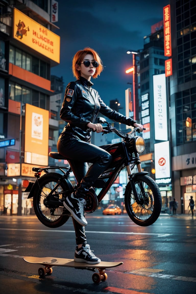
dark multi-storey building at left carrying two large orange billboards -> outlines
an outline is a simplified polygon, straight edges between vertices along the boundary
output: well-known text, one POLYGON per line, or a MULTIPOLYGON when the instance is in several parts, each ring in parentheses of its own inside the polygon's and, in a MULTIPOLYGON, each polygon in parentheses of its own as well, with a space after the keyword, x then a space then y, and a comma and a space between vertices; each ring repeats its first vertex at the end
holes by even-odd
POLYGON ((0 211, 8 214, 31 208, 22 191, 35 179, 32 166, 48 166, 58 133, 62 81, 51 87, 51 67, 60 63, 57 8, 48 0, 0 1, 0 211))

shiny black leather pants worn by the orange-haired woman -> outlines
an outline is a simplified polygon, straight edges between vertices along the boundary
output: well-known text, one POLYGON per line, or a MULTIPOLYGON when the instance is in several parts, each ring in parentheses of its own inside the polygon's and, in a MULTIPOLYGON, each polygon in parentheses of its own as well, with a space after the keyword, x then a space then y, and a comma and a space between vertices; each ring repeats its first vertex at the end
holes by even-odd
MULTIPOLYGON (((68 162, 78 182, 76 196, 84 198, 89 188, 103 173, 112 161, 112 156, 107 151, 78 138, 64 136, 57 142, 58 152, 69 158, 68 162), (92 163, 88 167, 88 163, 92 163)), ((72 218, 73 219, 73 218, 72 218)), ((76 232, 76 244, 86 243, 85 227, 73 219, 76 232)))

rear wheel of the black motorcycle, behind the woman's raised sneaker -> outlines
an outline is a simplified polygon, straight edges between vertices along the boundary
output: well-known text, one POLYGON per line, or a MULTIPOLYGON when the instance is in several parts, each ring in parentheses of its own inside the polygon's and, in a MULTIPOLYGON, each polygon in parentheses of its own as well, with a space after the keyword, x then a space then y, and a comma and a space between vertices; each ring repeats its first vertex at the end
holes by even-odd
MULTIPOLYGON (((43 225, 48 228, 58 228, 68 220, 70 213, 63 206, 63 202, 61 201, 60 206, 58 208, 49 208, 44 204, 44 201, 47 199, 47 195, 54 188, 58 180, 62 176, 58 173, 47 173, 41 176, 38 179, 38 185, 35 188, 33 193, 33 208, 35 214, 43 225), (51 214, 52 213, 52 214, 51 214)), ((62 198, 67 197, 66 191, 70 193, 70 187, 64 180, 61 185, 58 187, 56 193, 54 193, 54 197, 56 201, 60 201, 62 198), (62 193, 61 193, 62 191, 62 193)))

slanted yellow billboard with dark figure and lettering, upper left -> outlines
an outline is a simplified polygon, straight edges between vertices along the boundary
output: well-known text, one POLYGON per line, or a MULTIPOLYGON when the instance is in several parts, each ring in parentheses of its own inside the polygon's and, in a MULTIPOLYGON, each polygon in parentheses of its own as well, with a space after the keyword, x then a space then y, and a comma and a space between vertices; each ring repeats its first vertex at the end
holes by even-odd
POLYGON ((60 63, 60 37, 14 8, 13 38, 60 63))

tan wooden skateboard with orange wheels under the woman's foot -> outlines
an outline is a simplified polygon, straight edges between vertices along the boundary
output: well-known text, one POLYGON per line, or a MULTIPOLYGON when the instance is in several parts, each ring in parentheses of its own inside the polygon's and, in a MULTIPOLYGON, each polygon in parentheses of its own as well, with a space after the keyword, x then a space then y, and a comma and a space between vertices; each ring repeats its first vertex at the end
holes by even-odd
POLYGON ((36 263, 44 265, 45 268, 39 268, 38 274, 40 277, 44 277, 46 274, 52 273, 52 266, 66 266, 71 268, 76 268, 80 270, 91 270, 95 272, 98 270, 98 273, 92 275, 92 280, 94 283, 98 284, 100 281, 105 281, 108 278, 108 275, 105 273, 106 268, 114 268, 116 266, 122 265, 123 262, 106 262, 101 261, 98 264, 88 264, 85 262, 76 262, 73 259, 67 258, 56 258, 56 257, 32 257, 24 256, 24 261, 28 263, 36 263))

